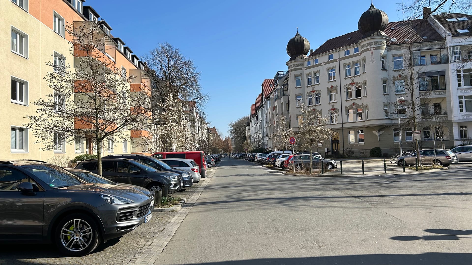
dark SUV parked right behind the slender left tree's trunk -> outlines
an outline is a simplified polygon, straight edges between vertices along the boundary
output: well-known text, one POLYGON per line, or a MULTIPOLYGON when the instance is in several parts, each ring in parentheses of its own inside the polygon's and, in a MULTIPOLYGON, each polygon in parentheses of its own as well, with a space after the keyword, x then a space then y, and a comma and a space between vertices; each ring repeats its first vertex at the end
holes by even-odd
MULTIPOLYGON (((169 193, 182 189, 182 177, 173 172, 157 170, 134 159, 107 158, 101 161, 102 175, 114 182, 133 184, 151 191, 169 188, 169 193)), ((97 159, 80 161, 76 168, 97 173, 97 159)))

